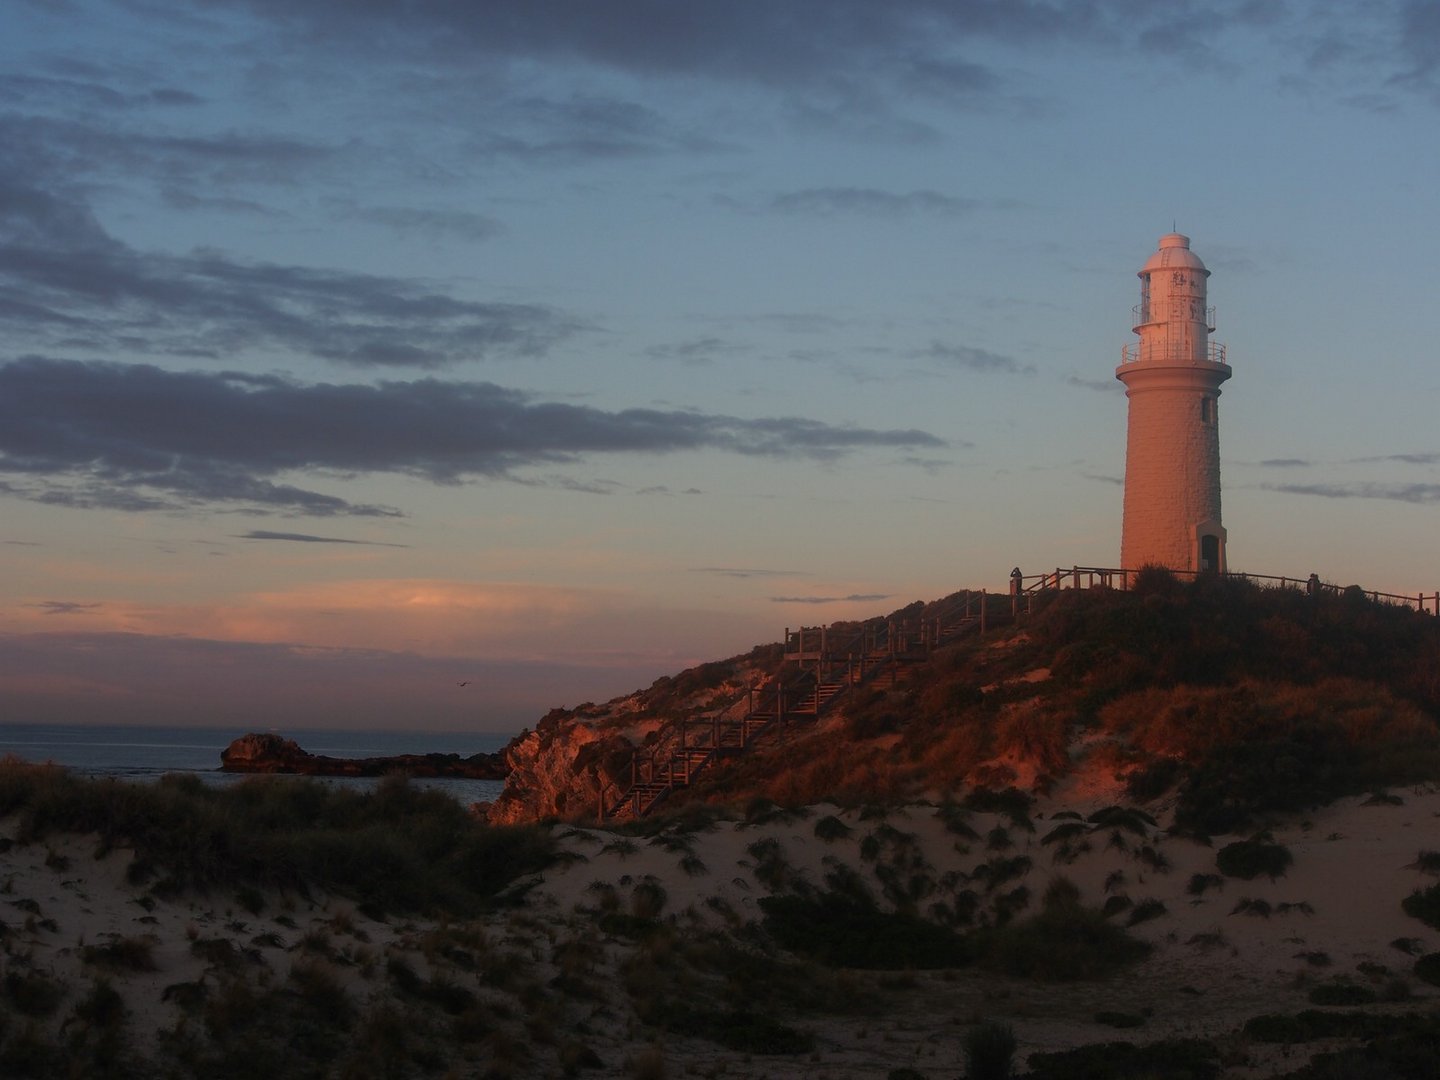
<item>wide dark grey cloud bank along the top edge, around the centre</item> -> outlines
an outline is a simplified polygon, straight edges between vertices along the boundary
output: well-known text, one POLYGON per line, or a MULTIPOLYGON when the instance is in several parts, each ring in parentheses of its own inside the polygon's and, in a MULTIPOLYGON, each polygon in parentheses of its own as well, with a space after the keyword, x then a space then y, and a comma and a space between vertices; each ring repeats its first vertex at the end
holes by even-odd
POLYGON ((346 40, 372 52, 406 49, 431 62, 474 63, 480 56, 580 60, 639 76, 704 76, 772 88, 865 79, 903 82, 936 94, 984 81, 973 60, 946 39, 1056 36, 1077 24, 1068 6, 796 0, 772 4, 645 3, 605 7, 583 0, 314 0, 302 6, 249 0, 281 24, 346 40), (444 43, 444 45, 441 45, 444 43))

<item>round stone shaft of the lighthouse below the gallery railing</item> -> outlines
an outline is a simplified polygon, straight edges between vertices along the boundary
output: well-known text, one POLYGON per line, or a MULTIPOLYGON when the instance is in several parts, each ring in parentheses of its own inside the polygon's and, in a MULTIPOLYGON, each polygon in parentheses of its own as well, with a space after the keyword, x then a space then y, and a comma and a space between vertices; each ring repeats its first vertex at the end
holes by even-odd
POLYGON ((1230 366, 1125 363, 1129 402, 1120 564, 1225 570, 1220 524, 1220 383, 1230 366))

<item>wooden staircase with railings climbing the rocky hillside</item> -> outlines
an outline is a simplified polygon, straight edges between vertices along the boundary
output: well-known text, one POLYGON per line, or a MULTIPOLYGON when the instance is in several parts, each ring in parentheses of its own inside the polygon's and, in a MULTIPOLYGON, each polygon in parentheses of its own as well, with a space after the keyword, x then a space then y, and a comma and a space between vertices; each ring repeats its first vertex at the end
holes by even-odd
POLYGON ((988 599, 985 592, 965 592, 930 605, 916 619, 802 626, 793 635, 786 629, 785 674, 749 687, 711 713, 665 724, 655 744, 631 759, 629 783, 600 795, 600 819, 645 816, 719 760, 749 752, 772 727, 818 720, 854 687, 894 688, 935 648, 985 629, 988 618, 996 621, 994 612, 986 615, 988 599))

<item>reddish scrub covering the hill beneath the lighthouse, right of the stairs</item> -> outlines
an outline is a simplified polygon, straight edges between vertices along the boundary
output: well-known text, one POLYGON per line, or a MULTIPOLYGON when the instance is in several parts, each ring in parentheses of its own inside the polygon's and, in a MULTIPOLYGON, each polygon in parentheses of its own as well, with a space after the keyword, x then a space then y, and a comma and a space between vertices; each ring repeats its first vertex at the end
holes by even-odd
POLYGON ((960 638, 840 710, 838 724, 770 736, 671 804, 959 798, 1014 783, 1017 763, 1044 786, 1087 759, 1123 775, 1135 801, 1178 791, 1181 828, 1234 832, 1440 779, 1440 619, 1146 572, 1129 592, 1041 598, 1018 628, 960 638))

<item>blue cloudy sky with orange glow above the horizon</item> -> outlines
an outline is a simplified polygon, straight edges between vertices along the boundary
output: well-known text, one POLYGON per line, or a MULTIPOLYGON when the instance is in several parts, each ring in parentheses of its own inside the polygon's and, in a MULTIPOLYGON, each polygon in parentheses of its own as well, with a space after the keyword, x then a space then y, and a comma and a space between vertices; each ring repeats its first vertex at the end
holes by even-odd
POLYGON ((1115 566, 1172 229, 1230 567, 1440 586, 1433 0, 0 23, 0 724, 505 733, 1115 566))

